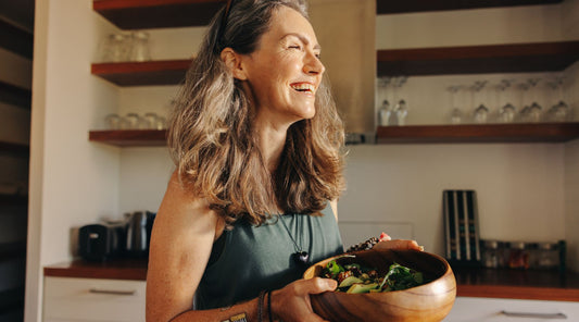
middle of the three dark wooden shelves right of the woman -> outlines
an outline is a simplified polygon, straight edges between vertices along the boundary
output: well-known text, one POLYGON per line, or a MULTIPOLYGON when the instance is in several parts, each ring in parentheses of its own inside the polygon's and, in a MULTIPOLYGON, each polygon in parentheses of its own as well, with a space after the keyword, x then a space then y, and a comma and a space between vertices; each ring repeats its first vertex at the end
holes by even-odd
POLYGON ((563 71, 579 60, 579 41, 378 50, 378 75, 563 71))

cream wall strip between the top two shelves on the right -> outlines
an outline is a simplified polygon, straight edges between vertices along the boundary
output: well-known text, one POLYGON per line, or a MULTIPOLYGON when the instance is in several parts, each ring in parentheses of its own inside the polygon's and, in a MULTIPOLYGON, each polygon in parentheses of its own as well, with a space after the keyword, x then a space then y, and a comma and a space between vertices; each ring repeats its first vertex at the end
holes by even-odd
POLYGON ((376 48, 557 41, 561 21, 558 4, 378 15, 376 48))

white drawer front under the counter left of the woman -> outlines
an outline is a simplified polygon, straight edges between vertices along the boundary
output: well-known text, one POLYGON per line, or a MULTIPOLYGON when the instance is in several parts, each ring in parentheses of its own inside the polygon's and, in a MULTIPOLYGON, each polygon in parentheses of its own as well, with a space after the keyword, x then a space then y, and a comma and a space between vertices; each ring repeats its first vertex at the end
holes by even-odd
POLYGON ((45 277, 43 321, 144 321, 144 281, 45 277))

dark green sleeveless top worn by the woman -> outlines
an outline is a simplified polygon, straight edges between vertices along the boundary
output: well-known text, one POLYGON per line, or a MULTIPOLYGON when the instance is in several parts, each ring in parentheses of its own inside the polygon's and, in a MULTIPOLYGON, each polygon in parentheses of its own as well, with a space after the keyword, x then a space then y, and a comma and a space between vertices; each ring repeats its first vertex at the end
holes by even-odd
POLYGON ((261 290, 278 289, 301 278, 309 265, 342 253, 338 223, 329 202, 322 214, 275 215, 261 226, 238 220, 213 245, 194 309, 223 308, 255 298, 261 290), (288 231, 299 250, 309 252, 306 265, 292 259, 298 249, 288 231))

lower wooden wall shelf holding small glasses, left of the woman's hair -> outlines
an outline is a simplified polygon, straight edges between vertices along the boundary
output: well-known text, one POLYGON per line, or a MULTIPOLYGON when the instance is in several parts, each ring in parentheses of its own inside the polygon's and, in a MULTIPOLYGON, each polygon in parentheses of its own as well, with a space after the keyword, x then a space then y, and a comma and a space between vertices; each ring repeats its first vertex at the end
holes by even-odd
POLYGON ((117 147, 163 147, 165 129, 91 131, 88 139, 117 147))

